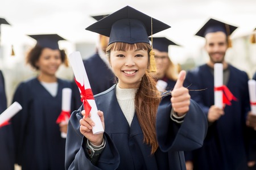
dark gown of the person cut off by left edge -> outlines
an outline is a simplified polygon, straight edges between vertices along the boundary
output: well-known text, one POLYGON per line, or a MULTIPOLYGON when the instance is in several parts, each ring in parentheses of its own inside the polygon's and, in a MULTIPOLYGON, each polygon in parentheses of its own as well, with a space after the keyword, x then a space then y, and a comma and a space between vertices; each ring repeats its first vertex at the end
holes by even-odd
MULTIPOLYGON (((0 70, 0 114, 7 108, 5 80, 0 70)), ((0 127, 0 170, 14 169, 13 131, 10 125, 0 127)))

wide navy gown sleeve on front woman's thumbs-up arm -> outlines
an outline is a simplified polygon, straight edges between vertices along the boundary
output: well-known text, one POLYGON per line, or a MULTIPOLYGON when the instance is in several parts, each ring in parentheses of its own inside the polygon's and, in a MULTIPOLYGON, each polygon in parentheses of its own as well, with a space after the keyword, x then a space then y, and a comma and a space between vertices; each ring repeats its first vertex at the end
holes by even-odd
POLYGON ((207 118, 199 105, 191 100, 189 111, 183 123, 171 121, 171 96, 163 97, 156 115, 156 137, 163 152, 175 150, 189 151, 203 146, 207 134, 207 118))

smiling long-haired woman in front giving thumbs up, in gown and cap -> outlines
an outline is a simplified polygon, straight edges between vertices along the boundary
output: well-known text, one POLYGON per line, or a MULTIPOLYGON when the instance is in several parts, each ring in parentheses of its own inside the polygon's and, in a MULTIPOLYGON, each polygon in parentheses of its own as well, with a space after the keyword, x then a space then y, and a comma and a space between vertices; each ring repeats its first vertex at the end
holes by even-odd
POLYGON ((118 83, 94 96, 104 133, 92 133, 83 105, 72 113, 66 169, 185 169, 183 150, 201 146, 207 120, 183 87, 185 71, 162 95, 149 74, 155 63, 148 36, 167 28, 129 6, 86 28, 110 37, 106 53, 118 83))

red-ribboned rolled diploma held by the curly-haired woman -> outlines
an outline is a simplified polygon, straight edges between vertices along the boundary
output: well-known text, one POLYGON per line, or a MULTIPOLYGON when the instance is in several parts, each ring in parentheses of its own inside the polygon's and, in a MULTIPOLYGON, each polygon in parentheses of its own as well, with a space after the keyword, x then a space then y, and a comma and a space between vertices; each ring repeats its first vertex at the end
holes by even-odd
MULTIPOLYGON (((61 113, 56 120, 56 124, 68 124, 71 113, 71 88, 63 88, 61 99, 61 113)), ((67 138, 67 133, 61 132, 62 138, 67 138)))

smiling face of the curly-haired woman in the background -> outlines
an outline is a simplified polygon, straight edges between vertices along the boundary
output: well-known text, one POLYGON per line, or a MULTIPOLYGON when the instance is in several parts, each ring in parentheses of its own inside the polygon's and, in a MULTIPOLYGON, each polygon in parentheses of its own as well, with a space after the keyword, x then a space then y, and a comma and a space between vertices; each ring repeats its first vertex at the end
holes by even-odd
POLYGON ((52 50, 44 48, 39 56, 36 66, 40 70, 40 74, 53 76, 61 65, 61 54, 60 50, 52 50))

